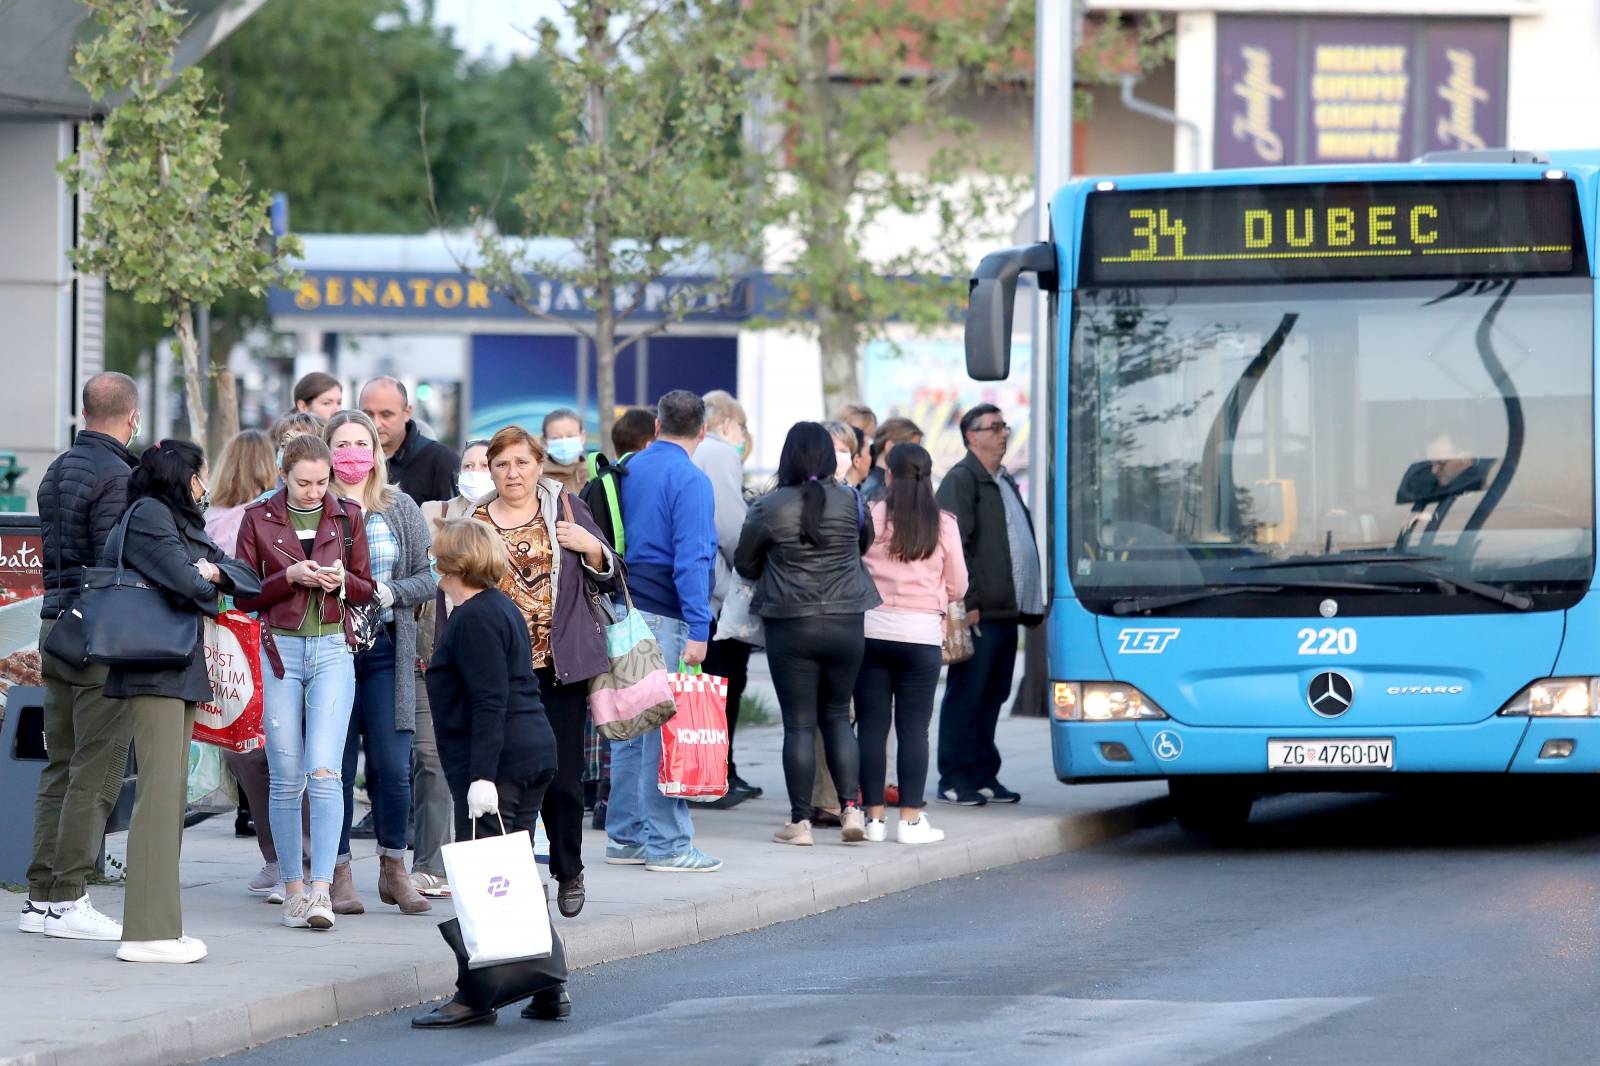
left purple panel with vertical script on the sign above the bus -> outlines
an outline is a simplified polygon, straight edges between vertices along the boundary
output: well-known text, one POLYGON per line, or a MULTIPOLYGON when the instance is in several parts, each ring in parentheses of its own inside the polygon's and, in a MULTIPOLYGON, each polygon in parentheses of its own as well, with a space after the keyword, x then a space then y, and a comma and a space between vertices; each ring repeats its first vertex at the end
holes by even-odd
POLYGON ((1294 162, 1298 53, 1294 19, 1218 19, 1213 166, 1294 162))

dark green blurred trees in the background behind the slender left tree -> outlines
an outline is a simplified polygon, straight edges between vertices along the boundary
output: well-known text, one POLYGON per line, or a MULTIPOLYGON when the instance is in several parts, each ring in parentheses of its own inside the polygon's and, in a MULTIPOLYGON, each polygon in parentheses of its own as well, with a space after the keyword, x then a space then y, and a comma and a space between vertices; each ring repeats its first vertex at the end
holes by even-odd
MULTIPOLYGON (((467 224, 477 205, 514 224, 523 152, 555 136, 544 61, 469 62, 448 27, 405 0, 270 0, 200 69, 227 115, 224 170, 248 166, 262 189, 285 192, 299 232, 426 230, 429 166, 445 224, 467 224), (424 99, 427 160, 418 138, 424 99)), ((266 299, 250 293, 213 307, 219 392, 229 352, 266 320, 266 299)), ((138 373, 162 336, 158 317, 110 291, 109 365, 138 373)))

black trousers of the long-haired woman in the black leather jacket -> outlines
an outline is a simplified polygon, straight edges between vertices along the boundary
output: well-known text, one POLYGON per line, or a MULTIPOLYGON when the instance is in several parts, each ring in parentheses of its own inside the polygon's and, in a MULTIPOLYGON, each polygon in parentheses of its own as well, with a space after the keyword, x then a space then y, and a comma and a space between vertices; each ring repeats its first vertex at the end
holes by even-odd
POLYGON ((845 804, 854 804, 861 755, 850 727, 850 698, 861 671, 866 637, 861 615, 813 615, 766 619, 766 663, 784 714, 784 783, 789 820, 811 818, 816 741, 822 730, 827 770, 845 804))

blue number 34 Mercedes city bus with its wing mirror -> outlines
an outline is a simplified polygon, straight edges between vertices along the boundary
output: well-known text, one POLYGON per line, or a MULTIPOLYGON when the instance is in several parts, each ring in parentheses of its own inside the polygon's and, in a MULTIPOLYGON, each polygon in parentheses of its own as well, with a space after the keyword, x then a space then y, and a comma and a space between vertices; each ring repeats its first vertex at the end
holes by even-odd
POLYGON ((1222 832, 1600 771, 1597 192, 1600 152, 1075 181, 982 259, 971 376, 1021 274, 1051 307, 1061 781, 1222 832))

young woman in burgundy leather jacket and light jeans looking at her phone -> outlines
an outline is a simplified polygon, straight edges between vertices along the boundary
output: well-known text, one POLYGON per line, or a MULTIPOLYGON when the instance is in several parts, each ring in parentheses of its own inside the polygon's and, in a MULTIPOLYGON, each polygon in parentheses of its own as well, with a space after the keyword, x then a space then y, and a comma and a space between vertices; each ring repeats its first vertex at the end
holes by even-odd
POLYGON ((349 608, 373 600, 362 507, 328 491, 333 456, 318 437, 283 447, 283 488, 251 504, 238 559, 261 576, 261 595, 238 607, 261 616, 270 818, 277 840, 298 840, 310 792, 310 887, 283 864, 283 924, 333 928, 334 858, 344 824, 339 768, 355 699, 349 608))

